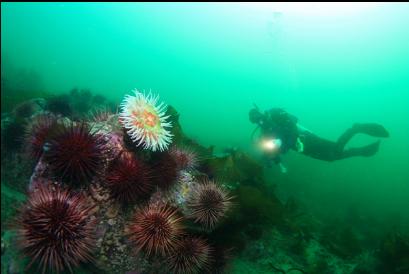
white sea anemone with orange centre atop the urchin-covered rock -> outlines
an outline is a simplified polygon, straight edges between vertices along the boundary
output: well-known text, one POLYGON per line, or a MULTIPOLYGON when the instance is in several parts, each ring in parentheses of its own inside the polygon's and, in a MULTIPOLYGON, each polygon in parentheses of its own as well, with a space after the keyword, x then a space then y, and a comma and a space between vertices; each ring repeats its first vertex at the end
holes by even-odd
POLYGON ((164 103, 157 105, 159 96, 149 92, 145 95, 133 90, 134 96, 126 95, 121 103, 120 120, 127 129, 132 141, 137 146, 152 151, 164 151, 172 142, 172 134, 168 129, 172 127, 165 116, 167 106, 164 103))

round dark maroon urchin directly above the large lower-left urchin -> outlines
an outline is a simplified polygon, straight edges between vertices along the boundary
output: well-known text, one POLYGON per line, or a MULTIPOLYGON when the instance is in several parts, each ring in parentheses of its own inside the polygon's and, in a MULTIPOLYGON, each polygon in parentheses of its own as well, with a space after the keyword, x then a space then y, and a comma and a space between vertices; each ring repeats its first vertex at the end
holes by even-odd
POLYGON ((89 183, 103 165, 105 139, 84 122, 62 125, 49 142, 44 160, 53 174, 70 185, 89 183))

